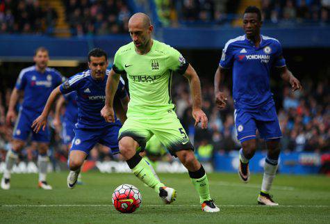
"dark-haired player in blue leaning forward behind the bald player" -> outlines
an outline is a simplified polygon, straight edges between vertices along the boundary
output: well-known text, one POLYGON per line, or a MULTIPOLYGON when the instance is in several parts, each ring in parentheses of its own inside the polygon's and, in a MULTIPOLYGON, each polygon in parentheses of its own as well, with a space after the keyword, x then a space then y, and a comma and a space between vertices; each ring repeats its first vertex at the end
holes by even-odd
MULTIPOLYGON (((68 166, 71 170, 67 177, 69 189, 74 188, 81 166, 94 145, 100 143, 109 147, 113 154, 119 153, 117 136, 122 124, 117 117, 114 118, 113 123, 108 123, 100 113, 104 107, 106 81, 110 73, 109 70, 106 70, 107 66, 108 56, 106 52, 99 48, 92 49, 88 54, 88 67, 90 69, 70 77, 62 85, 55 88, 51 92, 46 106, 44 106, 44 111, 33 122, 34 131, 38 132, 41 128, 43 130, 46 126, 51 105, 56 97, 60 94, 76 91, 79 112, 78 122, 74 128, 72 147, 69 151, 68 166)), ((121 99, 126 111, 129 96, 126 93, 122 79, 114 92, 121 99)))

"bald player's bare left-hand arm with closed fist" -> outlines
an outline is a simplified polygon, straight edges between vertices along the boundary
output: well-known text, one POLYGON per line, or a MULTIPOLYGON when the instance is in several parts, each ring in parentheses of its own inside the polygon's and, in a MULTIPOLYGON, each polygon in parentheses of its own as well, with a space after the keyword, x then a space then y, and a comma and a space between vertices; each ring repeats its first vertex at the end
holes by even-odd
POLYGON ((106 104, 101 110, 101 115, 106 122, 115 122, 115 113, 113 111, 113 98, 118 87, 120 74, 117 74, 113 69, 110 70, 108 80, 106 81, 106 104))

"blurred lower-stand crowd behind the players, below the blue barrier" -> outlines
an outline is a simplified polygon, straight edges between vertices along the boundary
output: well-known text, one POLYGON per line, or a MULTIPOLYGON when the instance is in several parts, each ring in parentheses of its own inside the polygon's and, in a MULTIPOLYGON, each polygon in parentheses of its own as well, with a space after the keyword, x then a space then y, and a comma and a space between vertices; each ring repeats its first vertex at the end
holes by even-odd
MULTIPOLYGON (((240 143, 236 138, 236 128, 233 118, 233 99, 229 97, 226 109, 219 111, 214 104, 213 83, 202 80, 203 110, 208 116, 208 129, 195 129, 195 120, 192 118, 192 101, 188 83, 176 80, 172 85, 172 96, 176 104, 176 113, 183 127, 188 132, 196 153, 203 159, 211 159, 216 152, 229 152, 239 150, 240 143)), ((275 90, 279 121, 283 131, 281 138, 282 152, 329 152, 330 150, 330 90, 329 83, 322 81, 313 83, 311 80, 302 80, 304 90, 292 93, 290 86, 275 90)), ((229 88, 224 89, 231 96, 229 88)), ((13 127, 5 125, 6 110, 11 89, 0 97, 0 149, 3 154, 10 147, 13 127)), ((51 125, 53 114, 49 118, 51 127, 51 145, 56 157, 66 161, 67 152, 61 145, 60 136, 51 125)), ((32 159, 36 153, 33 144, 26 147, 24 154, 32 159)), ((106 147, 97 146, 99 152, 94 150, 90 159, 111 159, 106 147)), ((263 140, 258 140, 258 150, 265 150, 263 140)))

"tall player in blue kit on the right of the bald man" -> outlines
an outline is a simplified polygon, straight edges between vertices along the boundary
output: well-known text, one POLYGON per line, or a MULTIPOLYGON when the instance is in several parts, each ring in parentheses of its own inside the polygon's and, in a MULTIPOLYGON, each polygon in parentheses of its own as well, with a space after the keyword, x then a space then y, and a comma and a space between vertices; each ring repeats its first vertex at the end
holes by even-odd
POLYGON ((238 141, 242 144, 238 174, 249 182, 249 160, 256 152, 256 129, 267 145, 263 183, 258 195, 260 205, 278 205, 270 196, 270 187, 279 162, 279 140, 282 136, 274 99, 270 92, 270 71, 276 67, 282 79, 288 81, 292 91, 301 89, 286 67, 279 40, 260 34, 261 11, 255 6, 245 9, 243 29, 245 35, 226 42, 219 67, 215 72, 215 102, 218 109, 226 106, 222 81, 233 68, 233 99, 238 141))

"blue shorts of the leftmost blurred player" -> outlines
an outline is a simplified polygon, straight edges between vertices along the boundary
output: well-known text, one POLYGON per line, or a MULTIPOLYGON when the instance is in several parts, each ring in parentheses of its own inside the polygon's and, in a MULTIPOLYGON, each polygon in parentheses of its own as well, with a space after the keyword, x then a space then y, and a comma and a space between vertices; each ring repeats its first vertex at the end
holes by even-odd
POLYGON ((46 127, 44 131, 40 129, 38 133, 35 133, 31 128, 33 120, 38 118, 40 113, 35 111, 28 111, 26 109, 19 109, 18 117, 15 123, 15 128, 13 131, 13 138, 22 141, 27 141, 28 136, 32 134, 31 141, 37 141, 41 143, 49 143, 49 129, 46 127))

